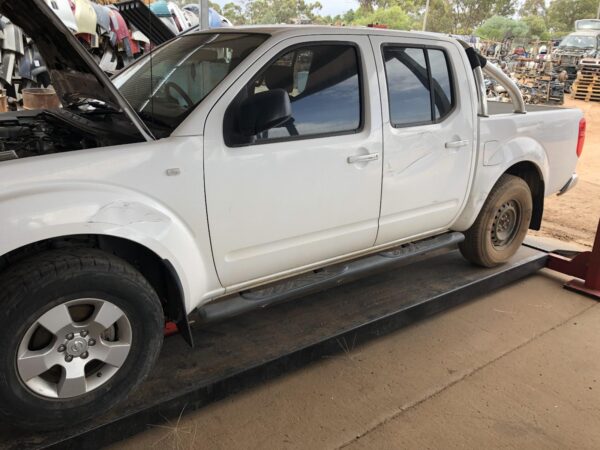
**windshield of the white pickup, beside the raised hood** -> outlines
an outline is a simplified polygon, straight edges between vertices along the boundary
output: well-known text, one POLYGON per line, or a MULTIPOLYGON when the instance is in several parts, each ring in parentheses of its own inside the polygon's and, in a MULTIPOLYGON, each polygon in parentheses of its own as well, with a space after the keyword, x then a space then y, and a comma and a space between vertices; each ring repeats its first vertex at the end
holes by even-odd
POLYGON ((267 37, 185 35, 159 47, 112 81, 158 136, 168 136, 267 37))

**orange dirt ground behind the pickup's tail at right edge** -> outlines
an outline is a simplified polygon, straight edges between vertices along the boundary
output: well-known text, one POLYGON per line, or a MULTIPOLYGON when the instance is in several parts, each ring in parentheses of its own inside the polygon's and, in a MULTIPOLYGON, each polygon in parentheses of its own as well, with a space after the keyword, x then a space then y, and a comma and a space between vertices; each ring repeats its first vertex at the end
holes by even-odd
POLYGON ((580 108, 587 120, 579 184, 562 197, 546 199, 542 229, 532 234, 591 246, 600 218, 600 103, 565 97, 565 106, 580 108))

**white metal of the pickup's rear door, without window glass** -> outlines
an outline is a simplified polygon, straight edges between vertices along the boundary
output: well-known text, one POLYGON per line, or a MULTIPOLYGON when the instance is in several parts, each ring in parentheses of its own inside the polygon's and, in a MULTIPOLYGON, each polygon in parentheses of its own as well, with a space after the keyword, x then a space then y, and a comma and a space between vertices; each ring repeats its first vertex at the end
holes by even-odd
MULTIPOLYGON (((372 36, 371 42, 383 111, 384 168, 377 237, 377 244, 381 245, 447 230, 462 211, 475 165, 476 98, 472 77, 467 76, 464 51, 456 43, 393 36, 372 36), (447 57, 454 109, 438 123, 394 127, 383 47, 420 49, 423 45, 441 50, 447 57), (449 148, 457 143, 461 145, 449 148)), ((403 78, 398 86, 390 84, 390 89, 417 89, 412 82, 403 78)))

